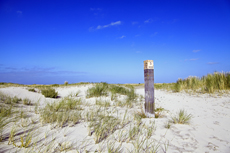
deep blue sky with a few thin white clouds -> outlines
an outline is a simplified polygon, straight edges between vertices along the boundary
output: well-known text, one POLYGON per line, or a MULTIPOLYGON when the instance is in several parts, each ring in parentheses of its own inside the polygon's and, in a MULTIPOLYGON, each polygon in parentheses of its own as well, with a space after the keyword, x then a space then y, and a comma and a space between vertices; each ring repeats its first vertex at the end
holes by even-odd
POLYGON ((0 0, 0 82, 156 83, 230 71, 227 0, 0 0))

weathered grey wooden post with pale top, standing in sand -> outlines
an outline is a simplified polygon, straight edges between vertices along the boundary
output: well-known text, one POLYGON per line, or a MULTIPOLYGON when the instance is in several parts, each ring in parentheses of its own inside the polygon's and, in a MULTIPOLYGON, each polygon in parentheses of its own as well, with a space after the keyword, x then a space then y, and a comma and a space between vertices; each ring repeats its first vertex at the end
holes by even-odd
POLYGON ((144 76, 145 76, 145 114, 148 117, 155 117, 153 60, 144 61, 144 76))

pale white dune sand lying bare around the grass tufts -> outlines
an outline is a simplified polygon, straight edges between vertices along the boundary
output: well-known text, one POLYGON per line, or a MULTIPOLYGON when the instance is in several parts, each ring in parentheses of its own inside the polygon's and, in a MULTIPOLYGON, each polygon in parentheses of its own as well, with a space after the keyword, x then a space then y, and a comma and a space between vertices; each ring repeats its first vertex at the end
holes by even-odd
MULTIPOLYGON (((135 92, 139 95, 137 103, 133 108, 118 107, 115 101, 111 101, 111 94, 107 97, 86 98, 87 89, 93 85, 82 86, 67 86, 57 87, 60 98, 52 99, 45 98, 41 93, 29 92, 26 87, 8 87, 0 88, 0 92, 11 97, 17 96, 19 98, 28 98, 33 103, 39 102, 39 108, 45 107, 46 103, 58 102, 62 98, 70 96, 76 92, 80 92, 78 97, 81 98, 86 106, 82 106, 85 110, 90 108, 96 109, 95 101, 100 99, 102 101, 109 101, 111 106, 106 110, 118 114, 118 118, 124 116, 127 110, 127 116, 130 122, 122 128, 113 131, 106 139, 98 144, 95 144, 94 135, 88 136, 88 123, 81 121, 77 124, 65 127, 53 127, 52 124, 42 124, 40 122, 39 114, 34 113, 33 106, 23 106, 26 108, 31 118, 36 120, 36 123, 21 127, 20 122, 16 123, 17 132, 25 131, 25 129, 33 128, 32 143, 28 148, 19 148, 14 145, 8 145, 8 140, 0 142, 0 152, 89 152, 102 151, 107 152, 109 143, 113 143, 115 147, 120 146, 121 152, 145 152, 144 148, 148 146, 158 146, 157 152, 169 153, 204 153, 204 152, 230 152, 230 95, 209 95, 209 94, 193 94, 187 93, 172 93, 164 90, 155 90, 155 105, 156 108, 162 107, 165 109, 163 117, 161 118, 143 118, 141 120, 143 131, 139 133, 138 137, 133 140, 128 140, 127 134, 130 126, 135 126, 136 122, 133 120, 133 113, 141 111, 144 99, 144 88, 137 88, 135 92), (176 115, 179 110, 184 109, 187 113, 192 114, 190 124, 171 124, 171 127, 165 128, 166 123, 171 119, 171 116, 176 115), (146 129, 144 129, 146 127, 146 129), (140 139, 139 144, 144 140, 146 130, 155 128, 148 141, 145 140, 143 148, 135 150, 135 143, 140 139), (119 135, 124 135, 124 141, 119 142, 119 135), (149 142, 149 144, 148 144, 149 142), (151 145, 150 145, 150 142, 151 145), (33 145, 32 145, 33 144, 33 145), (153 145, 154 144, 154 145, 153 145), (60 149, 62 148, 62 149, 60 149)), ((119 100, 124 100, 125 96, 119 95, 119 100)), ((28 120, 30 122, 30 120, 28 120)), ((9 133, 13 127, 13 123, 3 131, 9 133)), ((15 137, 16 144, 20 145, 19 136, 15 137)))

